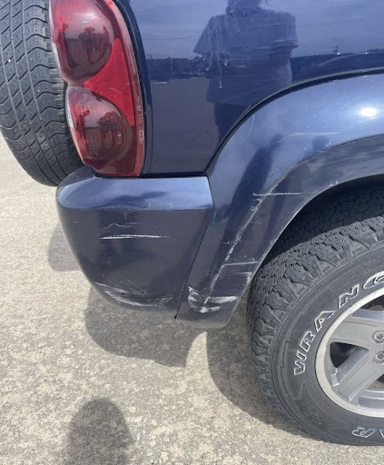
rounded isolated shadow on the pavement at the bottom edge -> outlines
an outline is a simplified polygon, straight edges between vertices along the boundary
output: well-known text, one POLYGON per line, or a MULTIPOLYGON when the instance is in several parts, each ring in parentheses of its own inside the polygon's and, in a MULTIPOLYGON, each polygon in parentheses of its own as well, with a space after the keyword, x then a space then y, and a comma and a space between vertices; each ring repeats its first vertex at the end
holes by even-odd
POLYGON ((108 399, 84 404, 71 421, 65 463, 126 465, 133 438, 123 413, 108 399))

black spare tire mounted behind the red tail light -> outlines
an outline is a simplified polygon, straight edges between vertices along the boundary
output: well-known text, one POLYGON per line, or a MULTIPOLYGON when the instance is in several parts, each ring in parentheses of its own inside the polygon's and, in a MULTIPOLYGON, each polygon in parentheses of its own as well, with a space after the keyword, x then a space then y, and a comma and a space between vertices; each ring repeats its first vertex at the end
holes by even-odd
POLYGON ((49 37, 48 1, 4 0, 0 129, 36 181, 57 185, 82 165, 65 119, 65 88, 49 37))

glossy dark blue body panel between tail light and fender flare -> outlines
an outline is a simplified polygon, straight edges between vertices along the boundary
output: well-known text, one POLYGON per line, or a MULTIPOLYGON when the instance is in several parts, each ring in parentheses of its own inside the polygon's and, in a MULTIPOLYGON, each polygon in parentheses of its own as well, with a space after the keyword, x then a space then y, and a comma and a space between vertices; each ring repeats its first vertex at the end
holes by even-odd
POLYGON ((255 104, 295 84, 384 65, 383 2, 121 0, 120 5, 140 43, 147 174, 203 173, 255 104))

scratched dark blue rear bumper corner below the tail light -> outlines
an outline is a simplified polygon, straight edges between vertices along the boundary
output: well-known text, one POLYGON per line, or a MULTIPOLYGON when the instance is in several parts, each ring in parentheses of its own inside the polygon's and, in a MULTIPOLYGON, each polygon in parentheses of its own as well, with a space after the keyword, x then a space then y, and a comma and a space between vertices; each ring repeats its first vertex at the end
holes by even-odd
POLYGON ((84 167, 57 189, 64 234, 106 300, 175 316, 212 218, 205 177, 101 178, 84 167))

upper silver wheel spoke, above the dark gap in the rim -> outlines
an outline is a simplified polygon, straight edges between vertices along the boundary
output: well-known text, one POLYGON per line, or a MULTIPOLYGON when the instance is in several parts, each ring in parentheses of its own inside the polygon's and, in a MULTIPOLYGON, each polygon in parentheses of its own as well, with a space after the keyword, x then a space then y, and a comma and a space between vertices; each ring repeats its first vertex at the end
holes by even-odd
POLYGON ((384 312, 360 309, 340 323, 330 343, 343 342, 369 349, 377 331, 384 331, 384 312))

